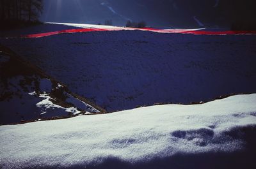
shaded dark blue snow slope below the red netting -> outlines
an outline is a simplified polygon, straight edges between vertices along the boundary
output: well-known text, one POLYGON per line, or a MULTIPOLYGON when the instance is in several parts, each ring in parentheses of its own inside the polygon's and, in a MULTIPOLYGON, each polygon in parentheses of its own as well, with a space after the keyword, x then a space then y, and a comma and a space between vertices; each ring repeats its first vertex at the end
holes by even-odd
POLYGON ((108 31, 0 41, 108 111, 256 92, 255 36, 108 31))

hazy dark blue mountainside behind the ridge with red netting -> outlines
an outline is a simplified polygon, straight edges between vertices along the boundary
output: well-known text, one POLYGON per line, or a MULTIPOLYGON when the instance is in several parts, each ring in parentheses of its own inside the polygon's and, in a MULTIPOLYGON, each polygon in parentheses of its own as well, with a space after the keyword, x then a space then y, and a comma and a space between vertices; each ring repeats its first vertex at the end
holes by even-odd
POLYGON ((104 24, 111 19, 116 26, 144 20, 148 26, 227 27, 234 18, 256 16, 253 5, 255 0, 44 0, 41 20, 104 24))

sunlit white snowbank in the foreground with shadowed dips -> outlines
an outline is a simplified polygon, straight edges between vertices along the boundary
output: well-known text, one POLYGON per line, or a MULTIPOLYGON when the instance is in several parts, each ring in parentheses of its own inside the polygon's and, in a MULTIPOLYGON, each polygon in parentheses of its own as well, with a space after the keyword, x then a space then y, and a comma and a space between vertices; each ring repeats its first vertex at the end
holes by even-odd
POLYGON ((0 126, 0 168, 253 168, 255 103, 237 95, 0 126))

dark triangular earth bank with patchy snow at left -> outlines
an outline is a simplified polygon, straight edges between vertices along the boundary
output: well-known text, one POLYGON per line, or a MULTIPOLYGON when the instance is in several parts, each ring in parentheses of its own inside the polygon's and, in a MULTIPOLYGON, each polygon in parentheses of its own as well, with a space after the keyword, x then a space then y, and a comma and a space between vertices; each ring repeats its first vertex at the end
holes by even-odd
POLYGON ((0 50, 0 124, 100 112, 12 51, 0 50))

